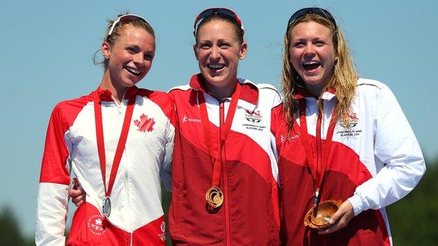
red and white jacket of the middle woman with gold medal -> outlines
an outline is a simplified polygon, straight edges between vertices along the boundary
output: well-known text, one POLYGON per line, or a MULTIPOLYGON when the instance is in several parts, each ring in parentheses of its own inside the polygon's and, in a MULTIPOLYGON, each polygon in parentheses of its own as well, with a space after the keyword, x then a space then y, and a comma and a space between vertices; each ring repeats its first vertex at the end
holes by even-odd
POLYGON ((178 128, 169 212, 173 245, 279 245, 278 171, 270 117, 281 99, 270 85, 245 79, 239 83, 241 93, 225 141, 220 177, 224 203, 215 213, 206 208, 213 165, 204 138, 199 94, 204 93, 215 143, 230 99, 218 102, 208 95, 201 74, 192 76, 189 85, 169 92, 175 100, 178 128))

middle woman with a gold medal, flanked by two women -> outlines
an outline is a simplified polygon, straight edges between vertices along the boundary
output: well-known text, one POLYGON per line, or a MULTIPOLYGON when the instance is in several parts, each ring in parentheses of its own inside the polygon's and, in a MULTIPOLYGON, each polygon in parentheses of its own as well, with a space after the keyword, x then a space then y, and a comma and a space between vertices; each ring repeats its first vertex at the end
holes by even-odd
POLYGON ((169 92, 178 129, 169 212, 172 242, 279 245, 277 162, 270 133, 279 93, 270 85, 237 78, 247 44, 236 13, 202 11, 194 36, 200 73, 169 92))

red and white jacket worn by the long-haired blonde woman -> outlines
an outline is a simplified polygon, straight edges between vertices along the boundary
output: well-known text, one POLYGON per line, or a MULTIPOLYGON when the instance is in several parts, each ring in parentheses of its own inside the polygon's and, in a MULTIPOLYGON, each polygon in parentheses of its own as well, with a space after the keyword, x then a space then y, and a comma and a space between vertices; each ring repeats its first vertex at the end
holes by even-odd
MULTIPOLYGON (((307 103, 307 129, 316 163, 319 109, 314 97, 295 95, 307 103)), ((321 141, 325 144, 336 94, 321 95, 324 114, 321 141)), ((406 196, 425 172, 417 139, 391 90, 383 83, 359 78, 352 102, 350 128, 339 121, 333 133, 321 201, 350 200, 354 218, 336 233, 319 235, 305 227, 304 215, 313 205, 314 184, 300 137, 297 118, 287 134, 283 109, 272 115, 272 132, 279 151, 281 242, 283 245, 392 245, 385 206, 406 196), (344 126, 343 126, 344 125, 344 126)))

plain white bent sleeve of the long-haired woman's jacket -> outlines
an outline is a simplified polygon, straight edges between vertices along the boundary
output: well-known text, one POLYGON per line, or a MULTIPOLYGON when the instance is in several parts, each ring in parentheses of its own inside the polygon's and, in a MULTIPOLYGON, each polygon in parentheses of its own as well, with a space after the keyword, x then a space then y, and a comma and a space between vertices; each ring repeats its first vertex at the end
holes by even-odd
MULTIPOLYGON (((368 121, 370 122, 370 121, 368 121)), ((380 209, 406 196, 425 173, 425 161, 418 141, 390 88, 377 96, 374 129, 375 177, 357 187, 349 198, 354 215, 380 209)))

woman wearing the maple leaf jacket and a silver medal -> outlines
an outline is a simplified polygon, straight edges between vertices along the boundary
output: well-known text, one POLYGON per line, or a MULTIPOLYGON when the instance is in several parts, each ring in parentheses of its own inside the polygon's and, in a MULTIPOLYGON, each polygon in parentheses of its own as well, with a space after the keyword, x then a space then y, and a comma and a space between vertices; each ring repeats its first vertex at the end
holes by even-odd
POLYGON ((67 245, 165 244, 160 175, 170 184, 174 106, 166 93, 135 86, 152 66, 154 30, 138 15, 119 15, 109 21, 101 52, 98 89, 53 109, 36 245, 66 244, 71 171, 86 203, 74 213, 67 245))

